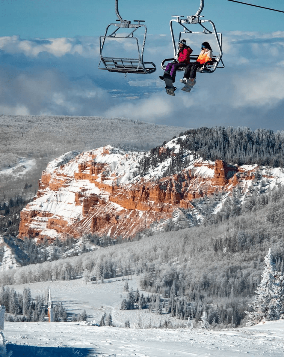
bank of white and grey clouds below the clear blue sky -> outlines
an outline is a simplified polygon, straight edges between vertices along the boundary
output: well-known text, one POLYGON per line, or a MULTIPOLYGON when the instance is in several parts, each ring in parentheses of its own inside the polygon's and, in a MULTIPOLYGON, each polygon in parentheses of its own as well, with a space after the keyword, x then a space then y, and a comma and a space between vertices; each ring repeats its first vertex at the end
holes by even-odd
MULTIPOLYGON (((113 42, 113 51, 119 50, 122 43, 113 42)), ((277 115, 283 114, 284 31, 224 35, 225 68, 210 75, 198 74, 190 94, 181 91, 179 72, 175 97, 166 95, 164 83, 158 79, 161 61, 172 56, 169 36, 149 36, 146 42, 144 60, 155 62, 157 71, 129 74, 126 79, 123 74, 97 70, 98 43, 92 37, 29 41, 2 37, 1 49, 10 57, 1 58, 1 112, 120 116, 188 127, 262 122, 277 128, 277 115), (43 51, 55 57, 48 61, 39 56, 43 51), (64 54, 69 56, 62 57, 64 54), (267 114, 272 108, 275 124, 267 114)), ((199 51, 199 41, 192 39, 191 44, 189 38, 188 44, 199 51)), ((121 51, 126 53, 124 45, 121 51)))

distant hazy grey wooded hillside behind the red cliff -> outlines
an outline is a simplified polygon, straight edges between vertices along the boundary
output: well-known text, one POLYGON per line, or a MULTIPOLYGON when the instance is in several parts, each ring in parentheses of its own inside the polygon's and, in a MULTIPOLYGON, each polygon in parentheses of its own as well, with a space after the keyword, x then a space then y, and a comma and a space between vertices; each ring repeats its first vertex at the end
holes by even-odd
POLYGON ((149 150, 187 129, 125 118, 63 115, 1 115, 0 124, 0 193, 1 202, 6 203, 15 196, 31 199, 48 162, 68 151, 87 151, 108 144, 149 150), (33 159, 35 164, 24 176, 17 170, 3 174, 4 169, 14 168, 23 158, 33 159), (32 190, 25 189, 26 183, 32 190))

